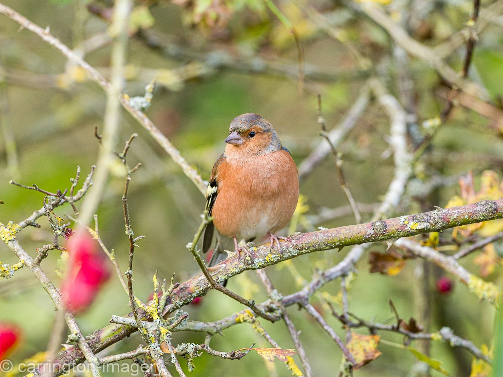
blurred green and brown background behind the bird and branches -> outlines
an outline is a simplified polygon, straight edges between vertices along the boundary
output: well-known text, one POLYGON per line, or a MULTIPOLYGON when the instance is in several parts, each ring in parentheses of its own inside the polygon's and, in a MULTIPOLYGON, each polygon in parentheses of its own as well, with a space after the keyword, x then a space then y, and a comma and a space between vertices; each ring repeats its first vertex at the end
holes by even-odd
MULTIPOLYGON (((445 107, 440 93, 447 89, 437 74, 423 61, 406 59, 397 65, 397 48, 388 35, 367 17, 353 9, 350 2, 275 2, 296 28, 302 43, 306 72, 304 90, 298 95, 298 54, 295 40, 289 30, 274 16, 267 3, 240 2, 141 2, 137 7, 149 7, 150 15, 140 17, 145 27, 140 35, 132 35, 127 56, 127 83, 130 96, 142 95, 144 86, 153 76, 159 83, 154 92, 147 115, 154 124, 181 151, 207 179, 215 159, 224 149, 230 121, 237 115, 256 112, 271 121, 283 145, 292 153, 299 165, 323 140, 317 124, 317 93, 322 95, 323 113, 328 129, 337 126, 362 91, 367 77, 377 75, 388 90, 400 98, 400 85, 404 82, 404 67, 411 83, 411 95, 402 105, 415 115, 416 122, 437 116, 445 107), (176 4, 173 4, 176 3, 176 4), (208 4, 210 7, 206 13, 208 4), (215 5, 216 4, 216 5, 215 5), (198 8, 199 7, 199 8, 198 8), (325 15, 333 27, 340 28, 346 42, 335 40, 324 33, 320 25, 308 18, 304 7, 316 9, 325 15), (210 12, 211 11, 211 12, 210 12), (213 12, 213 13, 212 13, 213 12), (201 20, 202 19, 202 20, 201 20), (148 23, 153 23, 146 28, 148 23), (162 51, 148 45, 155 39, 164 46, 162 51), (349 41, 368 59, 368 69, 358 68, 348 48, 349 41), (264 64, 269 67, 263 72, 264 64), (256 72, 249 67, 255 67, 256 72), (272 67, 272 68, 271 68, 272 67), (273 68, 276 68, 273 69, 273 68), (192 69, 192 71, 190 71, 192 69)), ((395 1, 387 11, 405 24, 411 36, 428 46, 436 46, 461 30, 470 17, 472 3, 468 1, 395 1), (419 13, 414 10, 421 9, 419 13), (407 20, 412 20, 407 23, 407 20)), ((110 2, 82 0, 4 1, 10 7, 45 27, 63 43, 82 53, 91 65, 105 76, 109 75, 110 44, 107 40, 109 25, 107 12, 110 2), (91 11, 90 8, 92 7, 91 11), (94 7, 94 8, 93 8, 94 7), (93 39, 94 38, 94 39, 93 39), (98 48, 90 50, 91 41, 98 48), (101 45, 100 45, 101 43, 101 45)), ((487 3, 489 4, 489 3, 487 3)), ((482 3, 482 8, 486 5, 482 3)), ((418 11, 417 11, 418 12, 418 11)), ((108 13, 109 14, 109 13, 108 13)), ((501 16, 489 22, 477 42, 469 78, 487 90, 489 101, 501 105, 503 80, 503 32, 501 16)), ((459 70, 464 58, 464 47, 447 59, 459 70)), ((96 162, 100 145, 93 136, 95 127, 100 131, 106 103, 105 93, 81 72, 71 67, 53 48, 39 37, 4 16, 0 16, 0 97, 2 100, 2 126, 0 136, 0 221, 19 222, 42 207, 43 195, 29 192, 9 184, 10 179, 23 184, 36 183, 48 191, 63 191, 69 187, 76 166, 82 176, 89 173, 96 162), (7 130, 7 131, 6 131, 7 130), (9 150, 6 133, 12 130, 15 152, 9 150), (14 159, 14 156, 17 158, 14 159)), ((411 123, 414 123, 413 120, 411 123)), ((393 174, 387 138, 389 119, 377 101, 371 101, 355 127, 339 146, 344 160, 347 185, 358 203, 378 203, 385 194, 393 174)), ((415 167, 415 176, 409 191, 392 216, 431 210, 445 206, 459 194, 457 178, 469 170, 474 171, 476 184, 485 169, 502 174, 503 139, 500 123, 491 121, 476 111, 463 107, 454 109, 449 121, 435 136, 431 148, 415 167), (427 190, 433 180, 439 187, 427 190)), ((128 154, 128 162, 142 167, 134 174, 130 186, 129 206, 135 235, 144 235, 138 242, 134 260, 134 292, 147 300, 152 293, 151 277, 155 270, 161 278, 169 279, 176 273, 177 281, 185 281, 198 273, 198 267, 186 249, 200 223, 204 198, 180 168, 156 145, 150 135, 124 112, 118 149, 122 149, 131 133, 137 132, 128 154)), ((128 240, 124 233, 121 195, 124 176, 120 161, 112 170, 103 202, 98 210, 100 234, 109 249, 114 249, 119 264, 127 266, 128 240)), ((301 181, 301 194, 307 199, 307 216, 315 216, 323 208, 346 206, 331 156, 301 181)), ((78 204, 77 204, 78 207, 78 204)), ((70 207, 55 212, 64 216, 70 207)), ((371 212, 363 214, 368 221, 371 212)), ((51 242, 52 233, 45 218, 41 228, 27 228, 18 239, 31 255, 37 247, 51 242)), ((352 215, 338 217, 317 226, 335 227, 353 224, 352 215)), ((442 238, 450 240, 450 233, 442 238)), ((498 245, 501 250, 501 243, 498 245)), ((375 244, 373 251, 383 251, 384 244, 375 244)), ((301 275, 310 280, 316 269, 336 264, 349 251, 345 248, 317 252, 293 260, 301 275)), ((59 252, 50 252, 42 263, 45 271, 59 285, 56 260, 59 252)), ((16 257, 5 246, 0 246, 0 260, 13 264, 16 257)), ((350 311, 359 317, 377 322, 392 323, 393 314, 388 306, 392 299, 401 318, 416 316, 413 310, 413 269, 418 261, 409 261, 397 276, 371 274, 366 257, 357 265, 357 277, 350 291, 350 311)), ((473 256, 462 264, 474 273, 473 256)), ((268 273, 278 291, 284 295, 301 287, 288 268, 277 265, 268 273)), ((479 302, 460 283, 453 292, 441 295, 435 282, 443 272, 430 268, 428 284, 431 300, 432 323, 430 331, 442 326, 451 327, 459 336, 468 338, 477 347, 491 345, 494 310, 486 302, 479 302)), ((501 267, 486 277, 500 284, 501 267)), ((267 299, 255 272, 248 271, 229 281, 228 288, 253 298, 256 302, 267 299)), ((340 281, 323 288, 323 292, 336 296, 340 281)), ((344 337, 341 324, 334 319, 328 306, 319 297, 313 303, 325 319, 344 337)), ((184 308, 189 318, 214 321, 241 310, 242 307, 219 294, 210 292, 198 305, 184 308)), ((340 310, 340 307, 336 307, 340 310)), ((108 324, 113 314, 128 313, 128 300, 117 278, 111 278, 99 294, 91 309, 77 318, 82 332, 89 334, 108 324)), ((288 309, 301 340, 307 350, 315 375, 337 375, 341 360, 340 349, 331 342, 323 330, 304 311, 288 309)), ((0 281, 0 321, 17 324, 23 337, 11 355, 15 362, 44 351, 54 320, 54 308, 47 294, 28 269, 16 272, 12 279, 0 281)), ((282 348, 294 348, 286 327, 282 323, 262 325, 282 348)), ((359 330, 357 330, 359 331, 359 330)), ((364 330, 359 331, 365 333, 364 330)), ((381 333, 384 339, 401 343, 396 334, 381 333)), ((204 334, 174 333, 174 343, 204 340, 204 334)), ((135 334, 108 348, 103 354, 134 349, 141 338, 135 334)), ((243 324, 215 336, 211 346, 221 351, 250 347, 267 347, 266 342, 243 324)), ((469 376, 471 355, 463 350, 432 342, 432 357, 443 362, 451 375, 469 376)), ((403 349, 381 343, 382 356, 356 372, 356 375, 406 376, 415 358, 403 349)), ((297 356, 295 360, 300 366, 297 356)), ((183 360, 181 360, 184 368, 183 360)), ((290 372, 276 361, 263 361, 250 353, 240 361, 222 360, 203 354, 195 360, 196 369, 190 375, 208 376, 287 376, 290 372)), ((175 373, 174 367, 170 370, 175 373)), ((105 373, 105 375, 121 373, 105 373)), ((124 373, 122 373, 124 374, 124 373)), ((122 375, 121 374, 121 375, 122 375)), ((441 375, 433 371, 432 375, 441 375)))

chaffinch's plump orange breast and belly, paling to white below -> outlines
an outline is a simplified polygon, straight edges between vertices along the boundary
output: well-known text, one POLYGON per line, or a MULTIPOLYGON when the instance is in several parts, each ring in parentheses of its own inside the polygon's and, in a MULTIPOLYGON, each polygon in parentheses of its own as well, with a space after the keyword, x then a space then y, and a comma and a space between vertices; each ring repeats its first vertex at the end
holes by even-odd
POLYGON ((297 167, 290 154, 275 152, 229 158, 218 169, 213 223, 227 237, 251 239, 290 221, 299 198, 297 167))

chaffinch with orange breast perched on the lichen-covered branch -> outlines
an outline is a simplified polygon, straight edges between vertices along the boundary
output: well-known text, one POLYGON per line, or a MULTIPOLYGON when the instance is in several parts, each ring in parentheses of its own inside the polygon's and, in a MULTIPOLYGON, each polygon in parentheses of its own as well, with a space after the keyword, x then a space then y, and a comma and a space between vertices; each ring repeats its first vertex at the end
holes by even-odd
MULTIPOLYGON (((206 210, 213 222, 203 234, 203 252, 211 247, 214 228, 222 236, 234 239, 238 246, 268 234, 271 248, 274 232, 290 221, 299 198, 299 174, 288 149, 281 145, 271 123, 258 114, 243 114, 230 123, 225 151, 216 160, 206 192, 206 210)), ((283 238, 283 237, 280 237, 283 238)), ((221 242, 217 237, 210 266, 219 258, 221 242)))

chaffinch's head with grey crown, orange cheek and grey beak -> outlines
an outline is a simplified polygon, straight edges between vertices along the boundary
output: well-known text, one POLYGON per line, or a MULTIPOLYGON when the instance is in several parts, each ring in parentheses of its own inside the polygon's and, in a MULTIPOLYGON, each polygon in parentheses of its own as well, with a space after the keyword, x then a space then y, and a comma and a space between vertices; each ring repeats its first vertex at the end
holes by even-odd
POLYGON ((282 148, 271 123, 258 114, 242 114, 232 120, 225 139, 226 155, 264 154, 282 148))

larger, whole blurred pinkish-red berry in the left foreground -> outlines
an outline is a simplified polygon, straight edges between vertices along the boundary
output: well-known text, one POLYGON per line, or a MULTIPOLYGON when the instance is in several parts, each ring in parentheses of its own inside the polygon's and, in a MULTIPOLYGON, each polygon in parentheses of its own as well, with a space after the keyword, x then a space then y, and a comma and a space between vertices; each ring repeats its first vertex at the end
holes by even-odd
POLYGON ((110 276, 109 265, 89 233, 77 233, 67 244, 70 260, 61 293, 68 311, 86 310, 110 276))

